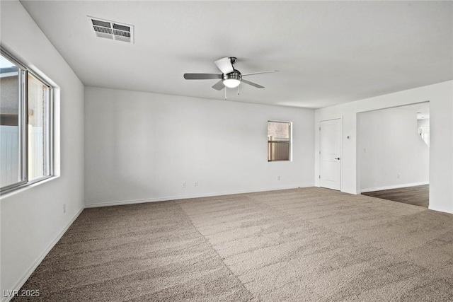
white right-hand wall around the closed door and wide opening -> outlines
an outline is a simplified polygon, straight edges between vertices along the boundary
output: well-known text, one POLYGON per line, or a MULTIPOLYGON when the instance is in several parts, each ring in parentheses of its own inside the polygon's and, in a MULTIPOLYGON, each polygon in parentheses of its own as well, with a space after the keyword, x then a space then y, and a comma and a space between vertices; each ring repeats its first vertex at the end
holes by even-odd
MULTIPOLYGON (((316 110, 315 124, 343 116, 342 191, 357 194, 357 113, 430 101, 430 209, 453 212, 453 81, 399 91, 316 110), (347 136, 350 139, 347 139, 347 136)), ((319 175, 319 134, 315 137, 315 176, 319 175)), ((316 180, 315 184, 319 185, 316 180)))

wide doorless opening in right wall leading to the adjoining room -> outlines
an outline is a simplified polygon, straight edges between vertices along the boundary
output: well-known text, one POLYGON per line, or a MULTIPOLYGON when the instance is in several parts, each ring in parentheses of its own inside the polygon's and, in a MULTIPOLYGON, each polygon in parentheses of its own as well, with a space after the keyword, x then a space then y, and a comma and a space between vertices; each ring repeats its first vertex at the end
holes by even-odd
POLYGON ((362 194, 428 207, 429 121, 429 102, 357 115, 362 194))

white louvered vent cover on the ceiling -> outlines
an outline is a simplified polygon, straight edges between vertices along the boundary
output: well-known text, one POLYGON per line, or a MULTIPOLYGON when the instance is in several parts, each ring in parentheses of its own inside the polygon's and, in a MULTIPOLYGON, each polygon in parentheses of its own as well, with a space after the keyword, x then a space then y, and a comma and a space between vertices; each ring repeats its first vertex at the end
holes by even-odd
POLYGON ((96 37, 134 43, 134 25, 117 23, 88 16, 96 37))

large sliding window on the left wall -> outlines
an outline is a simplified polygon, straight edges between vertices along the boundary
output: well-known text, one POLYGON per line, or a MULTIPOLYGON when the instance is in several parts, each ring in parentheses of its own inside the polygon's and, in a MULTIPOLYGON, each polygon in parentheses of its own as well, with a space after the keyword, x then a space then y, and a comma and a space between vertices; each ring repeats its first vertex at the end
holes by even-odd
POLYGON ((1 192, 52 175, 52 88, 1 50, 1 192))

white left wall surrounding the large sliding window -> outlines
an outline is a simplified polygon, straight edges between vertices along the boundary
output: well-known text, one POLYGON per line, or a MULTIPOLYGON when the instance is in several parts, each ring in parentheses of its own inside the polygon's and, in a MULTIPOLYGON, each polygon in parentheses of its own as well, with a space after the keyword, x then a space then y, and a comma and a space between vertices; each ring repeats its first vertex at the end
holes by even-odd
POLYGON ((3 293, 20 288, 84 207, 84 86, 18 1, 0 1, 0 8, 1 45, 59 87, 55 120, 60 124, 55 129, 59 177, 1 197, 3 293))

